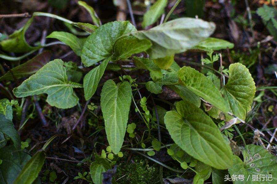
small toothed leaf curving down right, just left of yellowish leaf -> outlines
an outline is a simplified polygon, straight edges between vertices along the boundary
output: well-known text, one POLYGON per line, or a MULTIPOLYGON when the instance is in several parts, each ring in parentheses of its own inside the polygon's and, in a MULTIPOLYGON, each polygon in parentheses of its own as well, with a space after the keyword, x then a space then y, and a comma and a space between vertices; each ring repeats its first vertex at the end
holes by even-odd
POLYGON ((149 58, 133 57, 137 69, 146 69, 150 71, 150 76, 153 80, 162 78, 161 69, 149 58))

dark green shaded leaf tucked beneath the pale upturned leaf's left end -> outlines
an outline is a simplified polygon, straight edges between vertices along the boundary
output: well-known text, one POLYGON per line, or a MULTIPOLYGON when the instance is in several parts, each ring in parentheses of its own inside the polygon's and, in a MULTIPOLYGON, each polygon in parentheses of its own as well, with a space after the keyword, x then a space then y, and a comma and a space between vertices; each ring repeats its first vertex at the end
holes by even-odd
POLYGON ((143 52, 151 46, 152 43, 147 39, 139 40, 133 36, 120 38, 114 44, 114 54, 111 57, 111 61, 129 58, 132 54, 143 52))

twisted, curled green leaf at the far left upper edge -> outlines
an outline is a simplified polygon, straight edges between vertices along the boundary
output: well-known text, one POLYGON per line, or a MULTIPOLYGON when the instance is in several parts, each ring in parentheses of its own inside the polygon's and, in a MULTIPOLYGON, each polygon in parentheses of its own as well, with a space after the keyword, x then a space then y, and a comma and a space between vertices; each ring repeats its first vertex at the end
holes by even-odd
POLYGON ((7 52, 23 53, 38 49, 41 46, 32 47, 25 40, 25 32, 33 22, 34 17, 31 17, 28 22, 19 30, 14 31, 9 39, 0 42, 0 46, 7 52))

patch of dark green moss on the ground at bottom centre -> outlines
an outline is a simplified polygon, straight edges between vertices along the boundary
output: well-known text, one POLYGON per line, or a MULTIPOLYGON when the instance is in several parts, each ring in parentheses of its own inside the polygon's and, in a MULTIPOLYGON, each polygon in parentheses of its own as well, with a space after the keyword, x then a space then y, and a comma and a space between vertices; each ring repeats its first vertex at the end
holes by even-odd
POLYGON ((134 164, 119 164, 115 174, 115 180, 120 178, 118 183, 143 184, 159 182, 159 166, 157 164, 152 164, 149 160, 139 158, 138 156, 133 157, 132 160, 134 161, 134 164))

